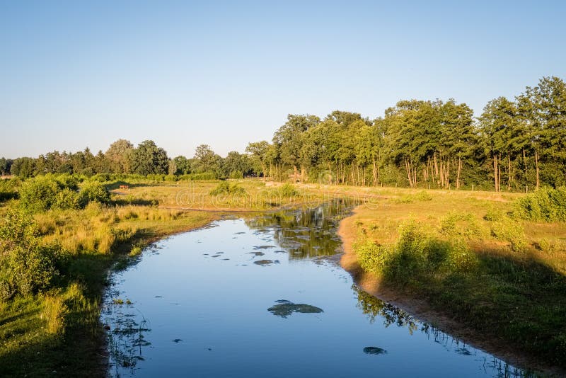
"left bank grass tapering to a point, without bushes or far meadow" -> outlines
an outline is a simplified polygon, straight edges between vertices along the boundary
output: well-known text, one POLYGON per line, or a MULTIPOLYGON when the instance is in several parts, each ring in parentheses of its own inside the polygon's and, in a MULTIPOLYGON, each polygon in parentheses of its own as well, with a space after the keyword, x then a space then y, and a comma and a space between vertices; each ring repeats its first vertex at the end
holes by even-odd
MULTIPOLYGON (((4 202, 0 216, 14 207, 16 200, 4 202)), ((105 336, 98 319, 108 269, 117 262, 127 266, 151 241, 216 217, 155 205, 96 203, 35 214, 42 241, 66 251, 62 278, 50 292, 0 304, 0 376, 105 374, 105 336)))

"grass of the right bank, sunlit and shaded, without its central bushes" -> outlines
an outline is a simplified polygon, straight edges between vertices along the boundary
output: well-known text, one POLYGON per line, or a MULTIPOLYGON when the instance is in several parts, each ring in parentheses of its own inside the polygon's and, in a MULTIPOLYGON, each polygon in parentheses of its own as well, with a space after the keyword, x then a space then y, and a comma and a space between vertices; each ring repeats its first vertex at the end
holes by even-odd
POLYGON ((547 365, 566 367, 566 224, 508 219, 504 214, 521 195, 429 191, 431 200, 419 200, 420 191, 364 191, 381 199, 360 206, 349 219, 356 241, 394 244, 400 224, 408 219, 438 239, 450 240, 439 232, 442 225, 454 214, 466 214, 468 220, 457 221, 456 229, 466 234, 468 248, 477 256, 468 273, 429 273, 399 282, 381 272, 380 285, 408 298, 425 298, 432 309, 483 335, 547 365), (502 218, 488 221, 486 214, 502 218), (524 248, 512 248, 513 238, 522 238, 524 248))

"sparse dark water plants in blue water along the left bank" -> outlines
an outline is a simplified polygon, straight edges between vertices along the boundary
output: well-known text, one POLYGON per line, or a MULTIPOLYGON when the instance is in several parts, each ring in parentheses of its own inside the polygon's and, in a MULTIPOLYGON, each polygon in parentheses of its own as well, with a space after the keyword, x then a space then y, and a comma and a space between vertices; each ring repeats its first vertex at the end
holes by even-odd
POLYGON ((142 316, 138 323, 132 310, 131 305, 107 304, 105 323, 110 326, 108 351, 114 377, 120 377, 120 371, 135 374, 137 362, 145 360, 142 347, 151 345, 144 337, 151 331, 148 322, 142 316))

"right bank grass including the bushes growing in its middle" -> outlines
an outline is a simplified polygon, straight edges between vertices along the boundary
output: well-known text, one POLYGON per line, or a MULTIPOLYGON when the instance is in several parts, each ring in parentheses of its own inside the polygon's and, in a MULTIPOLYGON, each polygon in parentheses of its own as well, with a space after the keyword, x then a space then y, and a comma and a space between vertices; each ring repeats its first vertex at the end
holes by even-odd
POLYGON ((381 200, 349 220, 364 270, 478 333, 566 367, 565 223, 516 217, 524 195, 369 193, 381 200))

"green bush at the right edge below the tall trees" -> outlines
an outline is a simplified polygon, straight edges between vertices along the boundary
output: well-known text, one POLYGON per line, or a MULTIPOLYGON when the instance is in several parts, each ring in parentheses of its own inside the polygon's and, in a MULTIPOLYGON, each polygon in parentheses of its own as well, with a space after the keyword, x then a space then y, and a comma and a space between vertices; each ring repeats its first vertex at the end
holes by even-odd
POLYGON ((517 200, 514 215, 519 219, 566 222, 566 188, 540 188, 517 200))

